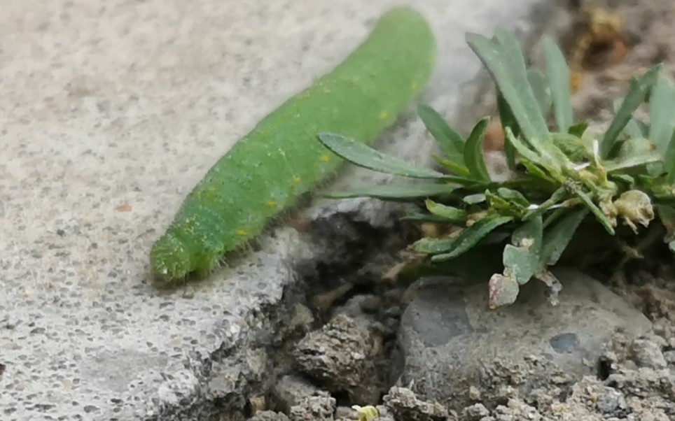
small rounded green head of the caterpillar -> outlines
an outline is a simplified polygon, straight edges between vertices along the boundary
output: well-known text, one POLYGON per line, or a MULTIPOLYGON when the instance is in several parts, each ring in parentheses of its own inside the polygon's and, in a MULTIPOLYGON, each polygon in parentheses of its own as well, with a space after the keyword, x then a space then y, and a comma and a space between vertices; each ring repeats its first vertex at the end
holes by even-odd
POLYGON ((155 280, 164 284, 185 278, 192 266, 186 245, 170 233, 160 237, 153 245, 150 264, 155 280))

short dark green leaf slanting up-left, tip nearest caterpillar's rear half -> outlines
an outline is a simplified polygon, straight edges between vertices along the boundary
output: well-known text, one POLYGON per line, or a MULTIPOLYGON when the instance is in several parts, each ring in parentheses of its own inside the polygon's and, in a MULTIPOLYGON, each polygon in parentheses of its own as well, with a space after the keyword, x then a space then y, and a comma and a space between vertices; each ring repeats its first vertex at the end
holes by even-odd
POLYGON ((461 134, 450 127, 445 118, 430 106, 424 104, 417 106, 417 115, 424 122, 431 136, 436 139, 440 150, 455 166, 453 171, 460 176, 468 176, 469 172, 464 164, 464 138, 461 134))

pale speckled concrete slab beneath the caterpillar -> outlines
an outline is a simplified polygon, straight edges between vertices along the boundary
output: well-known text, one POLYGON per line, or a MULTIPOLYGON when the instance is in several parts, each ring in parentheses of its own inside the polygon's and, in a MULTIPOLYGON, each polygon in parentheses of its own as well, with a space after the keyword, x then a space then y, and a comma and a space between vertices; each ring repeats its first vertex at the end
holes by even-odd
MULTIPOLYGON (((544 1, 4 2, 0 419, 213 419, 209 393, 223 387, 204 382, 293 283, 293 241, 156 292, 148 250, 188 191, 390 6, 412 4, 433 25, 427 93, 452 115, 480 69, 464 32, 526 27, 544 1)), ((420 133, 403 122, 388 136, 415 150, 404 141, 420 133)))

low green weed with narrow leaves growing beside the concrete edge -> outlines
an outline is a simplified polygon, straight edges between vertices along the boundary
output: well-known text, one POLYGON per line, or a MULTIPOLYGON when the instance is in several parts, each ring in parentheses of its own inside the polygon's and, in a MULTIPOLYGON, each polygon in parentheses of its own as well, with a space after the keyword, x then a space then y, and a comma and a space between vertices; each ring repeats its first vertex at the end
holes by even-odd
POLYGON ((587 217, 614 235, 618 222, 638 234, 638 225, 647 227, 657 216, 667 229, 664 241, 675 251, 675 85, 660 74, 662 65, 632 78, 627 95, 615 104, 611 124, 595 134, 587 122, 574 119, 569 69, 554 41, 543 41, 545 69, 540 71, 527 68, 517 38, 507 31, 498 29, 492 38, 468 34, 466 40, 496 84, 514 176, 503 182, 489 176, 481 148, 489 117, 464 138, 423 105, 419 117, 444 155, 436 157, 441 171, 323 133, 319 141, 353 164, 426 180, 328 196, 424 200, 424 213, 408 219, 460 227, 411 245, 430 264, 508 238, 503 273, 489 280, 491 308, 512 304, 520 285, 531 278, 547 283, 555 297, 560 285, 549 268, 587 217), (650 122, 634 115, 643 103, 649 104, 650 122))

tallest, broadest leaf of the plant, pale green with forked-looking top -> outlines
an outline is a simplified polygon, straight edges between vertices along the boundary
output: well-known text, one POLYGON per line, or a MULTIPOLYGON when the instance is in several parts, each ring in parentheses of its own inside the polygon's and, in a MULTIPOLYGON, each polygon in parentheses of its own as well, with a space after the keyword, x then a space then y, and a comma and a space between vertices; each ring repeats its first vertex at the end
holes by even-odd
POLYGON ((527 80, 522 50, 513 34, 497 29, 492 39, 467 34, 466 42, 492 74, 527 141, 548 137, 548 127, 527 80))

